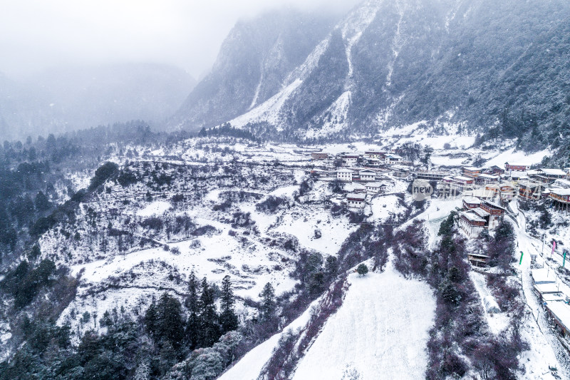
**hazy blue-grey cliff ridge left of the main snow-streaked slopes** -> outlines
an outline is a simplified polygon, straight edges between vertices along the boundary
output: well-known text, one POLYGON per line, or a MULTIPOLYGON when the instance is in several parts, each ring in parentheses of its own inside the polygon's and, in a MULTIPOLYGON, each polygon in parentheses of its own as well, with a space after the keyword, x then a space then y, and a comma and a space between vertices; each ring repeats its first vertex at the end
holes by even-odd
POLYGON ((211 127, 264 103, 281 91, 289 73, 333 24, 330 15, 289 10, 240 21, 222 43, 212 71, 171 124, 191 130, 211 127))

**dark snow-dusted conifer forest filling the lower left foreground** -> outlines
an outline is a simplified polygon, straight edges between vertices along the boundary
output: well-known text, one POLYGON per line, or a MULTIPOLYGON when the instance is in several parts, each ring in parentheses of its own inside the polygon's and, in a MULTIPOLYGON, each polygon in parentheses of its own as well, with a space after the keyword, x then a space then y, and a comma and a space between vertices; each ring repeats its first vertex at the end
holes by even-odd
MULTIPOLYGON (((19 268, 11 276, 14 292, 20 289, 16 277, 29 278, 30 283, 49 277, 49 268, 42 272, 30 272, 25 265, 19 268)), ((88 330, 76 347, 71 344, 74 332, 69 324, 59 327, 56 319, 25 315, 19 322, 25 343, 10 361, 0 362, 0 380, 211 380, 259 343, 257 329, 277 319, 275 292, 269 283, 257 304, 259 314, 244 324, 239 323, 234 303, 229 276, 218 287, 206 277, 200 282, 192 272, 183 302, 164 293, 152 299, 140 317, 123 307, 108 310, 98 321, 104 329, 88 330)))

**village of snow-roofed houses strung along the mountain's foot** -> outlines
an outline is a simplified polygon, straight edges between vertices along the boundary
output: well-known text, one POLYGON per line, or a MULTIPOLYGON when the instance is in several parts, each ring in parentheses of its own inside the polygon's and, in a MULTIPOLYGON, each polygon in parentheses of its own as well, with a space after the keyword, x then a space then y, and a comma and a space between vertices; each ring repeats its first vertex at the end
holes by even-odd
MULTIPOLYGON (((508 202, 513 197, 529 200, 549 199, 558 210, 570 210, 570 168, 564 170, 553 168, 531 169, 529 163, 507 162, 504 168, 497 165, 488 168, 466 166, 455 173, 445 170, 414 170, 412 163, 406 162, 400 155, 378 150, 367 150, 363 154, 340 153, 330 155, 324 152, 312 152, 313 160, 336 158, 337 168, 334 173, 325 170, 313 170, 314 175, 326 175, 345 183, 361 183, 371 194, 385 192, 387 182, 393 178, 418 178, 437 183, 438 195, 462 195, 481 202, 508 202)), ((353 196, 347 204, 354 208, 366 205, 366 196, 353 196)), ((484 210, 483 207, 477 207, 484 210)), ((489 226, 487 215, 481 211, 467 210, 462 220, 467 235, 478 235, 480 227, 489 226), (477 212, 480 215, 477 215, 477 212), (486 222, 482 222, 485 220, 486 222)))

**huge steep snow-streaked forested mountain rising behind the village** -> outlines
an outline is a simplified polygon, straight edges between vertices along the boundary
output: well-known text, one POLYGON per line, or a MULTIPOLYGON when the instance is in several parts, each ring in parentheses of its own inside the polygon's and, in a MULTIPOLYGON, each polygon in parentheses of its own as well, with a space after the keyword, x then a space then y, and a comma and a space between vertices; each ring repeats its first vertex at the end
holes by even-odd
POLYGON ((319 138, 445 118, 552 143, 546 126, 569 121, 569 16, 558 0, 368 0, 323 38, 326 23, 300 29, 307 38, 296 59, 275 53, 286 29, 267 33, 275 16, 242 22, 175 124, 229 121, 259 135, 319 138), (267 57, 280 68, 274 81, 267 57))

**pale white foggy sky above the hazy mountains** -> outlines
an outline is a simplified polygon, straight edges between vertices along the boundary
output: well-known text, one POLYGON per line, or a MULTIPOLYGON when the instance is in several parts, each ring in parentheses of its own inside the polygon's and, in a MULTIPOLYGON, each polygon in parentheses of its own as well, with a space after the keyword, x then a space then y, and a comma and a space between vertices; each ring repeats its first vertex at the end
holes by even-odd
POLYGON ((239 19, 269 9, 348 11, 358 0, 0 0, 0 73, 169 63, 195 78, 239 19))

